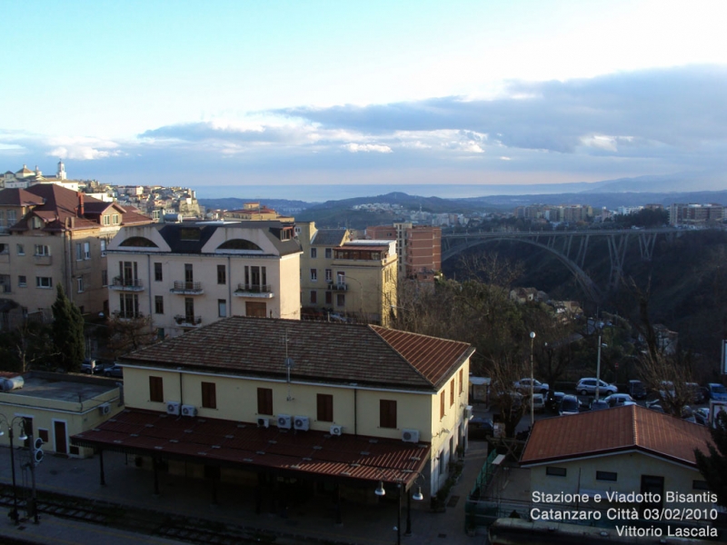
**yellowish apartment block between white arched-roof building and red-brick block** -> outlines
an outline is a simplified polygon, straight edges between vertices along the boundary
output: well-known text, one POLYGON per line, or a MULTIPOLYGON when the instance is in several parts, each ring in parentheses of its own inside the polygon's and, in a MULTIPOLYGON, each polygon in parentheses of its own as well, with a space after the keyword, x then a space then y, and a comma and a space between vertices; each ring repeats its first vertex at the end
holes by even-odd
POLYGON ((395 243, 350 240, 346 229, 297 223, 301 255, 301 304, 357 322, 387 325, 396 306, 395 243))

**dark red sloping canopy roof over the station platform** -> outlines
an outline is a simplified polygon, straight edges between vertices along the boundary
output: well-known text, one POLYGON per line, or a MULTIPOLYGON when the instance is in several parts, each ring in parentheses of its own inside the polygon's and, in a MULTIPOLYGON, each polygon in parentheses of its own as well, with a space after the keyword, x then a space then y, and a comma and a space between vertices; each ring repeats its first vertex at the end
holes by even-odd
POLYGON ((258 428, 249 422, 189 418, 125 410, 71 438, 84 447, 166 459, 303 471, 367 481, 414 481, 431 446, 324 431, 258 428))

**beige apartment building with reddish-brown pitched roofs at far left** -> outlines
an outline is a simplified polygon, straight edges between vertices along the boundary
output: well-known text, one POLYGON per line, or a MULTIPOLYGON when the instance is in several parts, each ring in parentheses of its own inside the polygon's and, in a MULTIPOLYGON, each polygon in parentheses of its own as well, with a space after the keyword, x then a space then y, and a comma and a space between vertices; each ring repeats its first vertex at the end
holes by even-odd
POLYGON ((107 312, 106 250, 124 225, 151 220, 55 183, 0 192, 0 291, 10 306, 50 312, 55 286, 82 312, 107 312))

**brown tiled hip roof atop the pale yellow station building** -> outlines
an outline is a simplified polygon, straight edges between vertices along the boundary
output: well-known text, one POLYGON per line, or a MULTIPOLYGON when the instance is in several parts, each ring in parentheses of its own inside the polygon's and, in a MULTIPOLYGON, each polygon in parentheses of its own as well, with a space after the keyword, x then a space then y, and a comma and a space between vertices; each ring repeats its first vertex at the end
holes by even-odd
POLYGON ((435 392, 474 349, 375 325, 233 316, 126 354, 128 364, 435 392), (287 339, 287 342, 284 342, 287 339))

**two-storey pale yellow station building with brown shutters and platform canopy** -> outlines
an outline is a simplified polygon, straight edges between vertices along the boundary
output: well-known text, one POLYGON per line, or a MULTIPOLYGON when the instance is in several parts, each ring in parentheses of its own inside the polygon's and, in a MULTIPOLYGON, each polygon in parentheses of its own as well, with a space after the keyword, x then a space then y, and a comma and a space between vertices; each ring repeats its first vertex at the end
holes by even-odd
POLYGON ((214 466, 263 497, 271 479, 334 490, 339 508, 373 502, 379 482, 433 494, 466 445, 473 352, 376 325, 234 316, 126 354, 126 411, 72 442, 154 471, 214 466))

